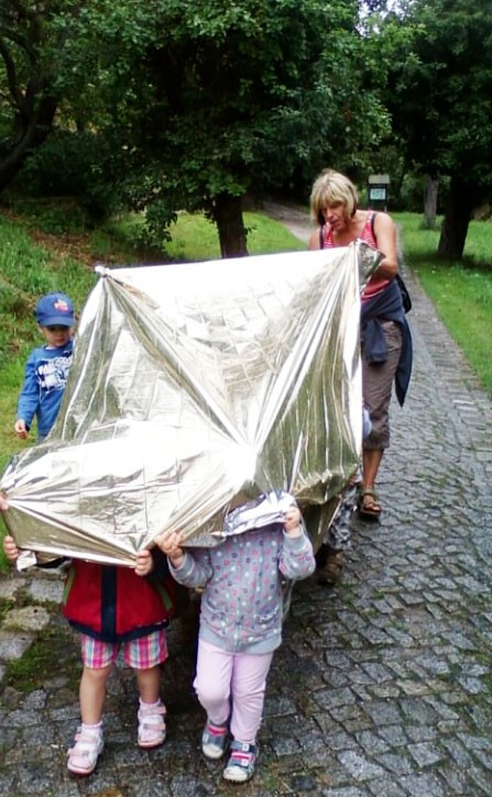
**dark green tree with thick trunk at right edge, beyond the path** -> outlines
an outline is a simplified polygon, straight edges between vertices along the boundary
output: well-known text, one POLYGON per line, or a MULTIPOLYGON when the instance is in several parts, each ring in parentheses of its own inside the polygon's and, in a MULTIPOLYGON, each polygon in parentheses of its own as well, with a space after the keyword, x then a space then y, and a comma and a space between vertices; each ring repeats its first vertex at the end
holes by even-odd
POLYGON ((490 0, 417 0, 386 24, 400 45, 385 95, 394 131, 408 162, 449 177, 438 245, 447 258, 462 257, 471 213, 492 190, 491 12, 490 0))

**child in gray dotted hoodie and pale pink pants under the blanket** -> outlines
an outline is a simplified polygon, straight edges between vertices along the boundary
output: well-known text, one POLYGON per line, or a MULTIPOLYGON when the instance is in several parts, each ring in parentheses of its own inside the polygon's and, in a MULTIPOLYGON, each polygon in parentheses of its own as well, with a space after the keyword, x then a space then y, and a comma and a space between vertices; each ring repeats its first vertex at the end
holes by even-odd
MULTIPOLYGON (((305 578, 315 569, 292 496, 269 494, 252 502, 254 509, 262 501, 277 501, 281 522, 232 533, 216 547, 184 549, 175 532, 156 540, 176 580, 204 588, 194 682, 207 711, 201 751, 220 759, 231 737, 223 777, 237 783, 250 779, 258 757, 266 676, 282 641, 283 579, 305 578)), ((251 506, 234 510, 237 519, 251 506)))

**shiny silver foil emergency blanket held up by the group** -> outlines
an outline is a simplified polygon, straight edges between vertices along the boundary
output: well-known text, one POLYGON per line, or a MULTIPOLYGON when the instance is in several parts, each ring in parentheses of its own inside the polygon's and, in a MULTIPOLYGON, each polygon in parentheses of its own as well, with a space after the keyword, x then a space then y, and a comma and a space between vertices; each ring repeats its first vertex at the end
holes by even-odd
POLYGON ((99 267, 57 421, 0 484, 17 544, 132 565, 165 530, 212 545, 261 524, 231 510, 282 490, 325 522, 360 458, 360 289, 380 258, 357 242, 99 267))

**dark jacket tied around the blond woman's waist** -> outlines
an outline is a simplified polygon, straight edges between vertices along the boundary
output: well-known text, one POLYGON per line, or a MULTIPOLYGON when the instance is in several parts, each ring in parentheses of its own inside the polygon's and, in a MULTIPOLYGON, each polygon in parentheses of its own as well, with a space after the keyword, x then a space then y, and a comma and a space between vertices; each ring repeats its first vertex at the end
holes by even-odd
POLYGON ((395 392, 400 406, 403 407, 412 374, 413 350, 412 334, 395 279, 392 279, 381 294, 362 302, 361 342, 368 365, 385 363, 387 359, 387 344, 381 321, 394 321, 402 330, 402 351, 395 374, 395 392))

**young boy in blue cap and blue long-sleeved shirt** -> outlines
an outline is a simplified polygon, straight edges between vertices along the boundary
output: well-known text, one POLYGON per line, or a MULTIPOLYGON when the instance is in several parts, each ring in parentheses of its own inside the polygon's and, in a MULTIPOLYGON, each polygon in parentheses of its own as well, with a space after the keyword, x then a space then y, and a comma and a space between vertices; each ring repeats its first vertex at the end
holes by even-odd
POLYGON ((34 348, 25 364, 24 384, 13 427, 22 440, 28 436, 34 417, 37 420, 37 440, 44 440, 53 427, 73 355, 75 318, 72 299, 59 292, 42 296, 35 316, 46 343, 34 348))

